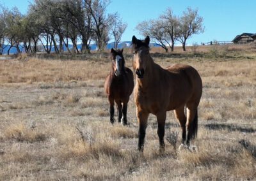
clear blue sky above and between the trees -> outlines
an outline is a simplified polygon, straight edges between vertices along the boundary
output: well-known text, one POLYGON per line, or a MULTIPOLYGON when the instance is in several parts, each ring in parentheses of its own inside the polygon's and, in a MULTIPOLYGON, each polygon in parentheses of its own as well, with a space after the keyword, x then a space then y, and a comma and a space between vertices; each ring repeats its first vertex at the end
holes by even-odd
MULTIPOLYGON (((27 0, 0 0, 8 8, 17 6, 26 13, 27 0)), ((198 14, 204 18, 205 32, 194 35, 188 44, 212 40, 233 40, 237 34, 256 33, 255 0, 112 0, 108 12, 117 11, 128 27, 122 41, 131 40, 133 35, 142 38, 135 30, 136 25, 150 18, 157 18, 170 7, 175 15, 181 15, 186 7, 198 8, 198 14)))

